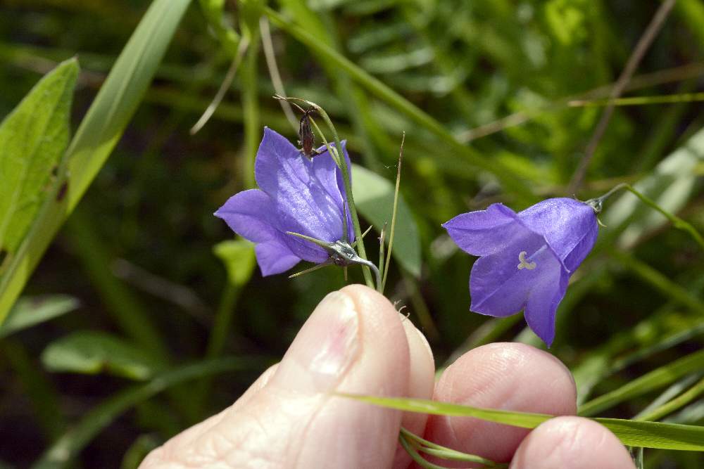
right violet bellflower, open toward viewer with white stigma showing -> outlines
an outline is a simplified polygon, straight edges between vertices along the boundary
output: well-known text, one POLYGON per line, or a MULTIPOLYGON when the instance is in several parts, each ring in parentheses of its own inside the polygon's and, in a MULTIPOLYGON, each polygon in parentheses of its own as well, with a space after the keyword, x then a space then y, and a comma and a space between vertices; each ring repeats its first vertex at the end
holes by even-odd
POLYGON ((596 242, 595 208, 553 198, 515 213, 495 203, 443 226, 462 250, 479 256, 470 275, 470 309, 496 317, 524 309, 528 326, 549 347, 570 276, 596 242))

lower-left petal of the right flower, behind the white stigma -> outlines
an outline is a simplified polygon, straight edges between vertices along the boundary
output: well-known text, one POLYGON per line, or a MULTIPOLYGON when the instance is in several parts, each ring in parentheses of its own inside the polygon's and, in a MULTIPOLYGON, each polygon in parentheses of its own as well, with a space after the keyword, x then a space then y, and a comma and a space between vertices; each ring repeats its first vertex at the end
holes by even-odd
POLYGON ((474 312, 504 317, 525 307, 529 292, 542 276, 551 273, 558 263, 542 236, 524 229, 522 236, 504 246, 500 252, 480 257, 472 266, 470 294, 474 312), (518 269, 521 252, 532 269, 518 269), (550 260, 552 259, 552 262, 550 260))

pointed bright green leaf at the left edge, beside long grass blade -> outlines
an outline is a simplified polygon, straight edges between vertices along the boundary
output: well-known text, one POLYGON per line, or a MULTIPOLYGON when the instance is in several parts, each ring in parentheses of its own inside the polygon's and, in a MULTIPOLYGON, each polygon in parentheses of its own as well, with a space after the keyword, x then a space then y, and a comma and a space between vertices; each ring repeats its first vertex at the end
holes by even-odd
POLYGON ((75 58, 61 63, 0 124, 0 274, 44 200, 55 197, 77 77, 75 58))

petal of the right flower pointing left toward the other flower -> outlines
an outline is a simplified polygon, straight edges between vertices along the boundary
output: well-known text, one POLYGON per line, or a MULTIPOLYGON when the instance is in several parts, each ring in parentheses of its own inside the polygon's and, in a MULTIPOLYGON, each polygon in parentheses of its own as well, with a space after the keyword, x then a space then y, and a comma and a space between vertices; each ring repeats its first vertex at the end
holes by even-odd
POLYGON ((505 250, 506 245, 527 236, 528 231, 517 221, 515 212, 501 203, 460 214, 443 227, 456 245, 474 256, 505 250))

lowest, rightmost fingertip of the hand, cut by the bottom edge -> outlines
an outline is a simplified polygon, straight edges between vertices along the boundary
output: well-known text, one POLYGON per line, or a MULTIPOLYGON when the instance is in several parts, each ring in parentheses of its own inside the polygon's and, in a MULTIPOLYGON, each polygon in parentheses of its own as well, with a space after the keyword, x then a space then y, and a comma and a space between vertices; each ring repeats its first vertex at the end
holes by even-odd
POLYGON ((558 417, 533 430, 518 447, 511 469, 635 469, 626 448, 602 425, 558 417))

